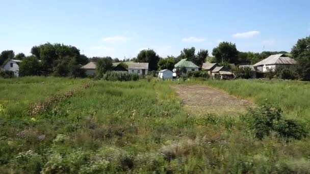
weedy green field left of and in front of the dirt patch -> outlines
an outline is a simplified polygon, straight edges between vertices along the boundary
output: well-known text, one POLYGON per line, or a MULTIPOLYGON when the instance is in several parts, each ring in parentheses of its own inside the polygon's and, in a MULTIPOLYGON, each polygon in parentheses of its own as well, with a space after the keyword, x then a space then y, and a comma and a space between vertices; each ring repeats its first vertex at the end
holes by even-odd
MULTIPOLYGON (((0 100, 0 173, 310 171, 309 138, 286 139, 272 133, 257 139, 238 116, 188 113, 170 88, 177 82, 99 80, 81 90, 88 79, 0 81, 0 93, 6 95, 0 100), (67 95, 71 89, 79 90, 67 95), (27 114, 31 104, 48 103, 55 95, 64 97, 39 114, 27 114), (16 114, 14 108, 18 108, 16 114)), ((190 83, 221 89, 233 84, 238 89, 239 83, 246 83, 225 82, 190 83)), ((269 88, 273 85, 267 82, 269 88)), ((254 94, 236 94, 255 99, 254 94)), ((300 94, 306 91, 296 93, 300 94)))

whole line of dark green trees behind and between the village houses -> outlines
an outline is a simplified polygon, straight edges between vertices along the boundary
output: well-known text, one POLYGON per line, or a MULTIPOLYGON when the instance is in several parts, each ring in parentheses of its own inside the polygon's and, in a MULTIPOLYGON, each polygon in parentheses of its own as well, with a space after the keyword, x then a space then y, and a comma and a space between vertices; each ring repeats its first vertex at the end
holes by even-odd
POLYGON ((25 56, 23 53, 14 54, 13 50, 4 50, 0 54, 0 66, 7 60, 17 59, 23 60, 20 63, 20 76, 30 75, 54 75, 54 76, 70 76, 84 77, 85 72, 81 66, 90 61, 97 62, 101 67, 100 73, 106 73, 113 68, 115 62, 146 62, 149 63, 149 70, 157 71, 162 69, 172 70, 174 65, 182 60, 187 59, 197 66, 201 67, 204 62, 220 63, 225 66, 234 63, 240 64, 255 64, 272 54, 284 53, 287 56, 294 58, 297 61, 296 73, 303 80, 310 80, 310 51, 309 37, 298 40, 292 48, 291 53, 286 51, 263 51, 257 52, 242 52, 239 51, 235 43, 221 42, 212 50, 212 55, 209 56, 208 49, 200 49, 196 53, 195 47, 184 48, 178 56, 160 57, 153 49, 141 50, 137 57, 132 59, 118 58, 112 59, 106 57, 87 57, 80 53, 80 50, 71 45, 45 43, 31 48, 30 56, 25 56))

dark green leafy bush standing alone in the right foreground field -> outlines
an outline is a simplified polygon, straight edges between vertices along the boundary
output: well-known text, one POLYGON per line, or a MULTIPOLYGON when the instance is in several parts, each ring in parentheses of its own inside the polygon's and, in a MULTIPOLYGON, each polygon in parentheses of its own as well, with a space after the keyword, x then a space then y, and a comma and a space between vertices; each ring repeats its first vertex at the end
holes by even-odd
POLYGON ((306 136, 304 126, 294 120, 282 118, 282 110, 271 106, 261 106, 259 108, 250 108, 242 116, 248 129, 253 131, 256 138, 262 139, 272 131, 277 132, 281 137, 301 139, 306 136))

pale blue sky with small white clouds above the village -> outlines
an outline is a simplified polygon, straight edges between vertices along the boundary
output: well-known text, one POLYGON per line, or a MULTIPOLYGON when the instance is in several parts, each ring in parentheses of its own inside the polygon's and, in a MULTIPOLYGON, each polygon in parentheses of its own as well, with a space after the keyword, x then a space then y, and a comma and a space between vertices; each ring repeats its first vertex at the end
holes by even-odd
POLYGON ((3 1, 0 50, 74 45, 88 56, 134 57, 143 48, 177 56, 220 41, 240 51, 290 51, 310 35, 310 1, 3 1))

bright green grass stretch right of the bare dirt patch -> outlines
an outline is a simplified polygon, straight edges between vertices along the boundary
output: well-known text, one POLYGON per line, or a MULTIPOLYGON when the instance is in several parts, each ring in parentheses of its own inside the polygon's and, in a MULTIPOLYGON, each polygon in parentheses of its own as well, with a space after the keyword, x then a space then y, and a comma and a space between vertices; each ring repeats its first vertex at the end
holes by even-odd
POLYGON ((310 83, 280 80, 209 80, 205 82, 257 104, 279 106, 287 117, 310 122, 310 83))

